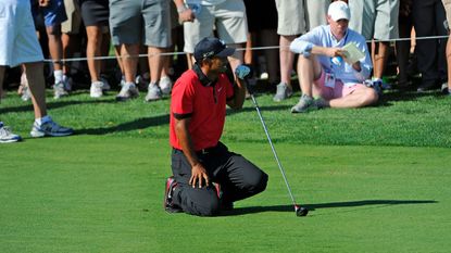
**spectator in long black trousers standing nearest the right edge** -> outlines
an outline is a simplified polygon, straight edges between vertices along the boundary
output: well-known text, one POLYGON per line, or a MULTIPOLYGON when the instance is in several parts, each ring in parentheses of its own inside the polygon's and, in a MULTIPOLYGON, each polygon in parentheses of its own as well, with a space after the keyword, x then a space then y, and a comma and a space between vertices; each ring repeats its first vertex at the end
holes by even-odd
POLYGON ((413 0, 413 25, 416 31, 416 54, 422 84, 417 92, 438 88, 447 79, 446 45, 447 39, 421 39, 429 36, 448 35, 443 22, 444 8, 441 0, 413 0))

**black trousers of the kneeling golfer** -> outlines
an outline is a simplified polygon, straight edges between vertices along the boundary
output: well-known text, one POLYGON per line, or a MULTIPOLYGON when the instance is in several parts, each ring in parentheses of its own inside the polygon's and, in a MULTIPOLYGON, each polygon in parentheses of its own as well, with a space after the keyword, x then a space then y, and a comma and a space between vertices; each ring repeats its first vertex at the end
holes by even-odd
POLYGON ((229 152, 227 147, 218 144, 206 152, 198 152, 205 167, 210 182, 220 184, 222 197, 218 198, 212 184, 208 187, 192 188, 189 185, 191 165, 180 150, 173 149, 172 170, 178 187, 174 191, 173 204, 187 214, 213 216, 224 203, 233 203, 266 189, 267 175, 240 154, 229 152))

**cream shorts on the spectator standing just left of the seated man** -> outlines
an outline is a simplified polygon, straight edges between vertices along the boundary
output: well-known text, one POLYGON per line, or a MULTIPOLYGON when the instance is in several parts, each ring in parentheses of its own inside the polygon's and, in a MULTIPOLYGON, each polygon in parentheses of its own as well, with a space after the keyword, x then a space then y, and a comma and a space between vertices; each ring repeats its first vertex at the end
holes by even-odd
POLYGON ((306 31, 303 0, 276 0, 276 8, 278 35, 292 36, 306 31))

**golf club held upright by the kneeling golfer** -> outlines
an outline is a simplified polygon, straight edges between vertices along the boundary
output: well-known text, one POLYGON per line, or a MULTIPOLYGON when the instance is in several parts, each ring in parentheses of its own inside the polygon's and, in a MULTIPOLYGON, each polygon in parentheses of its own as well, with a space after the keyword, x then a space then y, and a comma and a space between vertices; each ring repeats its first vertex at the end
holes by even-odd
MULTIPOLYGON (((249 76, 251 76, 251 75, 249 75, 249 76)), ((263 121, 262 113, 260 112, 259 104, 256 103, 255 97, 253 96, 253 87, 251 87, 249 85, 248 78, 245 78, 245 84, 246 84, 246 87, 248 88, 248 92, 249 92, 249 94, 250 94, 250 97, 252 99, 253 105, 255 106, 256 113, 259 114, 260 122, 262 123, 263 129, 264 129, 264 131, 266 134, 266 138, 267 138, 267 140, 270 142, 271 150, 273 151, 274 157, 276 159, 278 168, 279 168, 279 170, 281 173, 281 176, 284 177, 285 185, 287 186, 287 189, 288 189, 288 193, 289 193, 289 195, 291 198, 291 201, 292 201, 292 203, 295 205, 296 215, 297 216, 306 216, 306 214, 309 213, 309 210, 306 207, 302 207, 302 206, 300 206, 300 205, 298 205, 296 203, 295 197, 293 197, 293 194, 291 192, 290 185, 288 184, 287 177, 285 176, 285 170, 284 170, 284 168, 281 166, 281 163, 280 163, 278 156, 277 156, 277 152, 276 152, 276 149, 274 148, 273 141, 271 140, 271 136, 270 136, 270 132, 267 131, 266 124, 263 121)))

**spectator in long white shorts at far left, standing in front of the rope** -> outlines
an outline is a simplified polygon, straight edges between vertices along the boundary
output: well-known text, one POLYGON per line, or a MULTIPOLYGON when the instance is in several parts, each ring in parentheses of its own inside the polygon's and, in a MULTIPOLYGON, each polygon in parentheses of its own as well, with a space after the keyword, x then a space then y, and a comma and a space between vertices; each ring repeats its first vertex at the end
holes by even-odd
MULTIPOLYGON (((30 2, 22 0, 0 1, 2 17, 0 22, 0 84, 3 84, 5 66, 24 64, 32 91, 35 123, 32 137, 67 136, 72 128, 59 126, 47 115, 46 84, 42 69, 42 51, 35 34, 30 2)), ((0 94, 1 98, 1 94, 0 94)), ((20 141, 18 135, 11 132, 0 122, 0 143, 20 141)))

